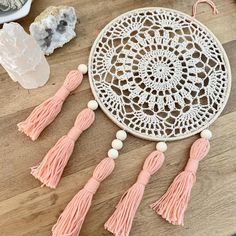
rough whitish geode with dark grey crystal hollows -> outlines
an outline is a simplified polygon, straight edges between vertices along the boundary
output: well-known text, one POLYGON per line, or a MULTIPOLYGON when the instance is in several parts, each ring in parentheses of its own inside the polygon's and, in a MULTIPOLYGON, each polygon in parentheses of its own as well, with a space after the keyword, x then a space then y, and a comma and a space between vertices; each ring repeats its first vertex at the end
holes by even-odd
POLYGON ((30 33, 45 55, 62 47, 76 36, 75 9, 68 6, 48 7, 30 25, 30 33))

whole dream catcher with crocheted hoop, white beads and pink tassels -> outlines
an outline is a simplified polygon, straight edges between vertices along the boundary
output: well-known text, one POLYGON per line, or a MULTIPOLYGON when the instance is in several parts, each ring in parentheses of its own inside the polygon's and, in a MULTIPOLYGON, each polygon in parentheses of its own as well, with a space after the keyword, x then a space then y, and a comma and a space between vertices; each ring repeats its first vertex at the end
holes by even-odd
MULTIPOLYGON (((207 2, 217 13, 213 2, 207 2)), ((70 72, 61 89, 19 123, 19 129, 37 139, 86 72, 85 65, 70 72)), ((121 130, 112 141, 108 157, 98 164, 59 217, 53 235, 79 234, 93 195, 115 168, 127 133, 156 141, 156 150, 148 155, 136 183, 121 197, 105 228, 116 236, 128 236, 145 186, 164 162, 166 142, 200 133, 185 169, 151 205, 170 223, 183 225, 199 161, 210 148, 212 134, 208 127, 222 112, 230 92, 230 66, 222 45, 195 17, 165 8, 137 9, 117 17, 101 31, 91 49, 88 74, 95 100, 79 113, 74 127, 43 161, 32 168, 32 175, 43 185, 57 186, 75 141, 92 125, 98 105, 121 130)))

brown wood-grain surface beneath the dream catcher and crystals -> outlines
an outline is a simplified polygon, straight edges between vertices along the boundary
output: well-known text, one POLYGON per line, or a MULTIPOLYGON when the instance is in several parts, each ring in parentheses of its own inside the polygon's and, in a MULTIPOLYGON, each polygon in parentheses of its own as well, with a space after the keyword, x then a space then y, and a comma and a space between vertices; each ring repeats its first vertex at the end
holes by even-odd
MULTIPOLYGON (((48 57, 51 77, 46 86, 24 90, 0 68, 0 236, 48 236, 66 204, 86 183, 110 148, 118 127, 100 110, 96 122, 76 143, 59 187, 40 188, 29 168, 37 164, 48 149, 72 126, 79 111, 92 94, 87 77, 70 96, 61 114, 36 142, 19 133, 17 122, 60 87, 66 74, 86 63, 98 32, 113 18, 140 7, 159 6, 191 14, 193 0, 40 0, 19 22, 28 31, 34 18, 50 5, 67 4, 77 10, 80 23, 77 37, 48 57)), ((197 137, 172 142, 162 169, 151 178, 134 220, 131 236, 227 236, 236 232, 236 2, 215 0, 220 14, 212 16, 206 5, 197 18, 222 42, 232 66, 232 92, 221 117, 212 125, 211 151, 201 162, 197 183, 186 212, 185 226, 166 223, 149 209, 183 169, 190 145, 197 137)), ((104 222, 125 190, 135 181, 145 157, 155 143, 128 137, 116 169, 94 197, 81 236, 108 236, 104 222)))

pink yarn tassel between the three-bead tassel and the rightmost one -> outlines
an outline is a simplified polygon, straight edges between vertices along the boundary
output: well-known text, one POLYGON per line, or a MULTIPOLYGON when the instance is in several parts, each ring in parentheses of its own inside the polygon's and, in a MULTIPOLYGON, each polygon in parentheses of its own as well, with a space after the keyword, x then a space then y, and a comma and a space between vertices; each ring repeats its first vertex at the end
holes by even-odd
POLYGON ((145 186, 151 175, 162 166, 164 159, 164 154, 160 151, 154 151, 147 157, 137 182, 122 196, 115 212, 105 223, 105 229, 116 236, 129 235, 145 186))

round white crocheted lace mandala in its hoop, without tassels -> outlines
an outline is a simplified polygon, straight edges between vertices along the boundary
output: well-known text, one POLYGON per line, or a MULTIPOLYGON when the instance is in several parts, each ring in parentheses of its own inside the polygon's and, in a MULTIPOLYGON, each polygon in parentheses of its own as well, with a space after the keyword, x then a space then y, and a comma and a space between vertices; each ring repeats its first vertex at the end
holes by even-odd
POLYGON ((102 110, 149 140, 176 140, 208 127, 230 91, 226 53, 204 25, 171 9, 127 12, 98 35, 89 80, 102 110))

